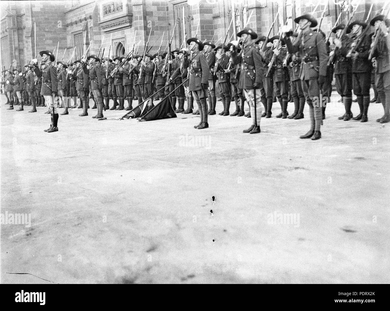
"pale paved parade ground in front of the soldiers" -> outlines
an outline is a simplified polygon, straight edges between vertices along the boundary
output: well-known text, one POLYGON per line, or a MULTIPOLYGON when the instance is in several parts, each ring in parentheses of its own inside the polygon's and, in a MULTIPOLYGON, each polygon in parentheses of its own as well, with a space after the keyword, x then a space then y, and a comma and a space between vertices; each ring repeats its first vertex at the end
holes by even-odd
POLYGON ((31 214, 30 227, 1 225, 2 283, 390 282, 381 104, 361 123, 337 120, 333 103, 311 141, 298 138, 307 107, 303 120, 262 118, 254 135, 244 117, 196 130, 192 115, 96 110, 69 110, 48 134, 45 108, 1 102, 1 212, 31 214))

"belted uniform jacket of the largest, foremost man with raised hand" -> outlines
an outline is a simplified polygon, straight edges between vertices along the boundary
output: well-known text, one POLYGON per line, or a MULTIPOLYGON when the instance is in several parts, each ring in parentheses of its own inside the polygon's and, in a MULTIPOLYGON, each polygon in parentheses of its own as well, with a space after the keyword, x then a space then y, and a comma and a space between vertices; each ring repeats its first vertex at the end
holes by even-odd
POLYGON ((318 76, 326 76, 328 54, 326 44, 321 33, 310 29, 307 33, 300 35, 291 43, 290 38, 286 39, 287 49, 290 54, 298 52, 301 61, 301 80, 317 79, 318 76))

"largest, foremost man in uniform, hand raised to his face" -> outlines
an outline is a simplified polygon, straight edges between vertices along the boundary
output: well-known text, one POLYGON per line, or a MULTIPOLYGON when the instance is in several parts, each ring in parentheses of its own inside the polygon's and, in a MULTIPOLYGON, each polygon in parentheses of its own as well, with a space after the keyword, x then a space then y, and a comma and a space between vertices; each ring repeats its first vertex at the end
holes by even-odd
MULTIPOLYGON (((319 103, 319 98, 321 87, 325 82, 328 54, 322 35, 310 29, 310 27, 317 26, 315 18, 310 14, 304 14, 294 21, 299 24, 301 32, 294 43, 291 43, 288 37, 285 41, 289 53, 298 52, 298 57, 301 57, 300 78, 310 113, 310 130, 300 138, 318 140, 321 138, 321 124, 323 122, 322 103, 319 103), (313 99, 317 101, 315 106, 313 106, 313 99)), ((283 36, 285 35, 284 32, 283 36)))

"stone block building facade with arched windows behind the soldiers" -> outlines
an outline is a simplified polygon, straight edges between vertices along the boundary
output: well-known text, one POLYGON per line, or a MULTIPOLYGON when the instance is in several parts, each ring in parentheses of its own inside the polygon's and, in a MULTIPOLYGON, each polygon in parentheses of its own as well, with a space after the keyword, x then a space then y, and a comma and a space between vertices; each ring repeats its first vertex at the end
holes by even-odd
MULTIPOLYGON (((356 2, 340 3, 349 5, 351 1, 356 2)), ((378 14, 385 3, 360 1, 356 19, 365 19, 372 1, 371 16, 378 14)), ((235 34, 245 24, 266 35, 279 11, 276 27, 271 31, 271 35, 275 35, 283 23, 294 28, 293 19, 311 13, 317 3, 317 0, 1 1, 1 65, 9 67, 12 60, 16 60, 23 66, 36 56, 35 53, 56 49, 58 41, 58 59, 69 60, 74 50, 75 60, 89 45, 90 53, 97 53, 102 46, 105 56, 110 44, 110 55, 128 53, 133 44, 138 43, 138 51, 142 52, 149 33, 152 53, 158 50, 162 38, 162 49, 166 48, 173 31, 172 49, 180 48, 184 38, 195 34, 202 40, 222 43, 229 29, 227 41, 236 39, 235 34)), ((340 11, 339 3, 335 4, 334 0, 320 1, 314 16, 320 18, 324 12, 321 29, 326 34, 340 11)), ((350 12, 351 6, 346 7, 340 22, 346 22, 350 12)))

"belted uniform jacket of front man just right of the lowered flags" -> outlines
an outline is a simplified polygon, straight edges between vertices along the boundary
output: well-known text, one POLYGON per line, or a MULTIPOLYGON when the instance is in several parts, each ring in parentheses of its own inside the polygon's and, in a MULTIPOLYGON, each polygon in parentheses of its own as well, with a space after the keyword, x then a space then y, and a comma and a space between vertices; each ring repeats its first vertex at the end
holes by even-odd
POLYGON ((210 67, 207 64, 206 56, 203 52, 197 51, 192 54, 189 61, 190 80, 188 82, 189 91, 202 90, 202 84, 208 84, 210 67))

